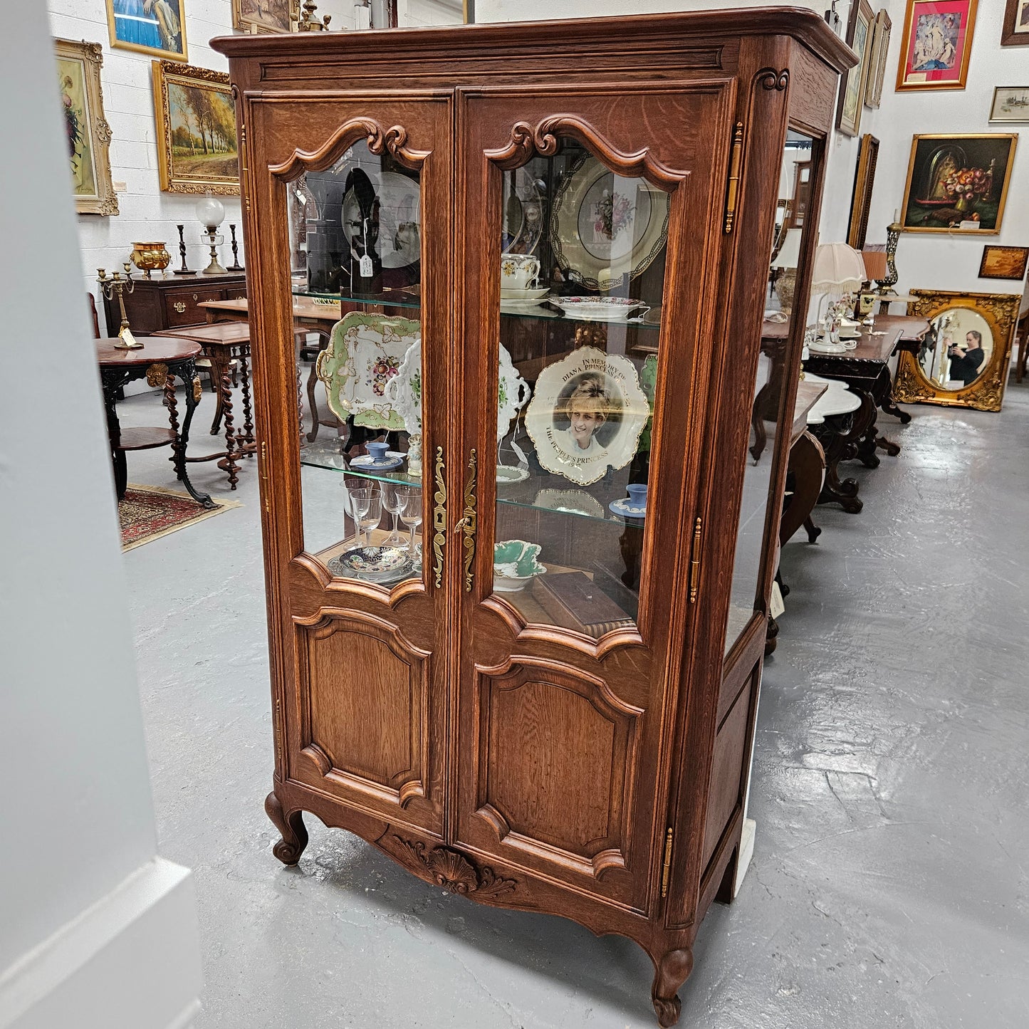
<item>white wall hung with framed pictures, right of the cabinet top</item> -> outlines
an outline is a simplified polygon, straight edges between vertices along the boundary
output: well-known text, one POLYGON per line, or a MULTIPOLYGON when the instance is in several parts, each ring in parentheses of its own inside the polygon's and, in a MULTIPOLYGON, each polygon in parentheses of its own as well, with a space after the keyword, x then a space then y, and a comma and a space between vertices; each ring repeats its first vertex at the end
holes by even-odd
MULTIPOLYGON (((857 2, 857 0, 854 0, 857 2)), ((589 17, 613 14, 675 10, 724 9, 754 6, 753 0, 565 0, 556 6, 552 0, 476 0, 476 22, 514 22, 555 17, 589 17)), ((771 4, 779 6, 780 4, 771 4)), ((827 0, 795 0, 781 6, 806 6, 821 14, 827 0)), ((840 15, 847 23, 847 0, 838 3, 840 15)), ((995 85, 1029 84, 1029 50, 1022 46, 1000 45, 1002 0, 984 0, 972 42, 968 84, 963 91, 944 90, 926 93, 896 93, 897 62, 903 28, 903 0, 876 2, 873 8, 885 7, 893 22, 882 106, 864 108, 860 133, 872 133, 880 141, 872 209, 868 218, 868 243, 885 243, 886 226, 893 212, 903 203, 904 180, 915 133, 1020 132, 1008 192, 1008 204, 999 236, 945 236, 943 234, 904 233, 897 247, 899 273, 897 290, 913 287, 956 289, 967 292, 1021 293, 1022 285, 998 279, 980 279, 979 263, 984 244, 1029 246, 1029 126, 989 125, 990 103, 995 85)), ((819 224, 823 243, 847 239, 850 200, 854 185, 859 137, 835 135, 828 146, 826 185, 819 224)))

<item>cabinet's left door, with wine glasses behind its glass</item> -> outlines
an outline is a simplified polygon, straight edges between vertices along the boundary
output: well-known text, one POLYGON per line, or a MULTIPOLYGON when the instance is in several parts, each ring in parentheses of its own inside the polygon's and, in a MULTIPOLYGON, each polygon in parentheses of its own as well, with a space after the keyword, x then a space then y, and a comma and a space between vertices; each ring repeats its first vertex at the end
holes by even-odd
POLYGON ((452 101, 249 103, 278 775, 438 836, 452 101))

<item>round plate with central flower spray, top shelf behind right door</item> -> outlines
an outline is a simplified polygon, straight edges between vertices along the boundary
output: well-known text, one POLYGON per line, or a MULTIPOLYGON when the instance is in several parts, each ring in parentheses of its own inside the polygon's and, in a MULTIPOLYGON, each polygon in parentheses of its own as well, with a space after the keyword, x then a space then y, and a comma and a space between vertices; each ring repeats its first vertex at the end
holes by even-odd
POLYGON ((561 183, 551 245, 573 282, 607 291, 650 267, 668 239, 669 194, 586 154, 561 183))

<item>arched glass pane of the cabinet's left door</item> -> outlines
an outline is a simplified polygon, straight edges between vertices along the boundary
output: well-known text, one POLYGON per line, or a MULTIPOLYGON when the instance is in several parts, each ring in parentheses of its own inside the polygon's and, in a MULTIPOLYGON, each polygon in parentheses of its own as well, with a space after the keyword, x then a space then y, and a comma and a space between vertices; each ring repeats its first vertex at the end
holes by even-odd
POLYGON ((286 191, 305 549, 389 589, 422 575, 420 174, 362 141, 286 191))

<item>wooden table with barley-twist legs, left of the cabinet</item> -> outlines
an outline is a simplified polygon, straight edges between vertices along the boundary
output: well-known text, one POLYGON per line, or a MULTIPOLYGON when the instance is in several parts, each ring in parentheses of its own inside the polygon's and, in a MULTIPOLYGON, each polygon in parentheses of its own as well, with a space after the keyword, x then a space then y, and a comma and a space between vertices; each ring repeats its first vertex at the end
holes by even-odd
MULTIPOLYGON (((232 301, 228 301, 232 303, 232 301)), ((246 300, 243 301, 246 304, 246 300)), ((218 467, 228 474, 228 485, 236 489, 239 482, 239 458, 249 457, 256 449, 253 405, 250 399, 250 325, 245 321, 219 322, 215 325, 189 325, 169 329, 168 335, 191 340, 204 348, 211 361, 212 377, 218 383, 218 406, 211 423, 211 435, 216 435, 222 420, 225 423, 225 449, 216 454, 190 458, 190 461, 218 461, 218 467), (243 391, 243 426, 236 429, 233 416, 232 363, 239 362, 240 387, 243 391)))

